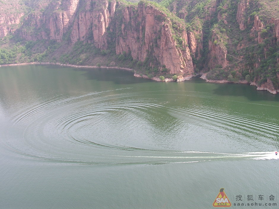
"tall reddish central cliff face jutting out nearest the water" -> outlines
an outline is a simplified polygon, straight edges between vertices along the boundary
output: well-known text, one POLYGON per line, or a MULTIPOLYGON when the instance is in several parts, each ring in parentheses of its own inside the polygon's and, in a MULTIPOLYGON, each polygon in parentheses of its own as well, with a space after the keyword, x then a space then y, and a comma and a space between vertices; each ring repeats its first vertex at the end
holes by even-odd
MULTIPOLYGON (((131 53, 131 56, 144 62, 152 56, 161 66, 169 69, 170 74, 193 74, 194 67, 186 29, 179 23, 175 32, 172 23, 158 9, 151 5, 139 4, 123 9, 123 19, 119 19, 116 29, 116 53, 131 53), (164 22, 163 22, 164 21, 164 22), (180 43, 179 43, 180 42, 180 43)), ((160 67, 159 70, 161 70, 160 67)))

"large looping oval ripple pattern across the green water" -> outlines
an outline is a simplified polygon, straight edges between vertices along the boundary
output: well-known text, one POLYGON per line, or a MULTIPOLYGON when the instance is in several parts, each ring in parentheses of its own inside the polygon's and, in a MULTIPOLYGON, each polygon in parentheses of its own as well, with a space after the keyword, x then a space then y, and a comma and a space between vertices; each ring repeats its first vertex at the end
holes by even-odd
POLYGON ((85 164, 200 162, 248 155, 177 150, 206 150, 209 143, 222 150, 255 136, 262 145, 260 137, 268 135, 273 143, 278 133, 275 124, 201 105, 166 106, 152 91, 122 90, 89 92, 29 108, 13 118, 10 149, 32 158, 85 164), (224 145, 223 138, 234 141, 224 145))

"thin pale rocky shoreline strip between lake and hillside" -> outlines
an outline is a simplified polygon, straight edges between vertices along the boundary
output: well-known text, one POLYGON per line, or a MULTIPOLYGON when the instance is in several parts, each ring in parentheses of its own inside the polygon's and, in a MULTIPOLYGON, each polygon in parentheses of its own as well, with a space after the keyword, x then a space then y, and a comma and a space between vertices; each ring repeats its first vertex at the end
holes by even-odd
MULTIPOLYGON (((125 68, 125 67, 118 67, 118 66, 86 66, 86 65, 71 65, 71 64, 61 64, 61 63, 50 63, 50 62, 45 62, 45 63, 38 63, 38 62, 31 62, 31 63, 15 63, 15 64, 4 64, 4 65, 0 65, 0 67, 5 67, 5 66, 21 66, 21 65, 60 65, 60 66, 67 66, 67 67, 74 67, 74 68, 107 68, 107 69, 121 69, 121 70, 126 70, 126 71, 134 71, 134 69, 132 68, 125 68)), ((271 94, 277 94, 279 93, 279 90, 270 90, 269 88, 263 88, 263 87, 259 87, 256 85, 255 82, 248 82, 246 80, 243 81, 238 81, 238 82, 231 82, 228 80, 209 80, 206 78, 206 74, 207 73, 203 73, 200 74, 200 78, 205 80, 206 82, 209 83, 234 83, 234 84, 250 84, 251 86, 256 86, 257 90, 265 90, 270 92, 271 94)), ((172 78, 166 78, 164 81, 161 81, 159 79, 159 77, 152 77, 149 78, 147 75, 143 75, 143 74, 137 74, 134 73, 135 77, 140 77, 140 78, 145 78, 145 79, 151 79, 154 81, 158 81, 158 82, 175 82, 175 80, 173 80, 172 78)), ((192 77, 195 77, 195 75, 191 75, 191 76, 187 76, 187 77, 182 77, 181 79, 177 79, 176 82, 182 82, 182 81, 186 81, 186 80, 190 80, 192 77)))

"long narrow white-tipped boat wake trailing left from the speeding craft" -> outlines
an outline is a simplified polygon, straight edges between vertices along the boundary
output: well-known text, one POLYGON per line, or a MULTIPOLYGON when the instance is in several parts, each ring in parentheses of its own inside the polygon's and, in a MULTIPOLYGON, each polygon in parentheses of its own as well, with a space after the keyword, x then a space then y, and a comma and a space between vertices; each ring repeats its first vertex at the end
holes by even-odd
MULTIPOLYGON (((84 142, 83 142, 84 143, 84 142)), ((87 157, 77 156, 46 156, 42 153, 28 153, 15 150, 26 158, 44 160, 48 162, 60 162, 83 165, 105 165, 105 164, 169 164, 169 163, 196 163, 215 160, 274 160, 279 159, 275 151, 271 152, 248 152, 248 153, 218 153, 203 151, 164 151, 139 149, 132 147, 107 146, 101 144, 91 144, 95 150, 94 155, 87 157), (101 149, 100 149, 101 148, 101 149), (102 151, 101 151, 102 150, 102 151)))

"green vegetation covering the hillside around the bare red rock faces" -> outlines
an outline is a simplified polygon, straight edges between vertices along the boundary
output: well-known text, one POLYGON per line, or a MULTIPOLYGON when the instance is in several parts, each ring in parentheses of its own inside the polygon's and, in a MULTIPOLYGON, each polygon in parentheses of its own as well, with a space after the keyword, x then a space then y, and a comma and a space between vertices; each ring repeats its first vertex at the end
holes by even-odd
MULTIPOLYGON (((279 88, 277 74, 279 72, 278 58, 279 48, 277 40, 274 38, 274 25, 267 24, 267 20, 271 17, 279 17, 279 2, 277 0, 251 0, 249 6, 244 12, 246 29, 241 31, 236 20, 237 6, 239 1, 232 0, 120 0, 121 4, 117 5, 115 17, 111 20, 109 28, 107 28, 107 43, 109 50, 100 50, 93 43, 93 35, 88 36, 84 42, 78 41, 72 46, 70 33, 64 33, 63 41, 58 43, 54 40, 38 40, 26 41, 21 39, 21 35, 15 32, 0 41, 0 64, 21 63, 21 62, 59 62, 76 65, 102 65, 102 66, 125 66, 134 68, 140 74, 146 74, 149 77, 161 75, 164 77, 172 77, 169 70, 153 56, 156 50, 157 40, 160 36, 156 36, 147 58, 140 62, 131 57, 130 52, 122 52, 117 55, 115 52, 115 40, 117 36, 125 38, 126 34, 122 34, 122 9, 131 7, 137 15, 137 5, 156 7, 167 15, 157 15, 155 17, 159 22, 169 24, 172 30, 173 39, 176 46, 180 50, 188 47, 188 40, 184 40, 181 36, 184 28, 187 32, 192 32, 196 39, 197 50, 191 54, 196 73, 207 72, 208 79, 228 79, 236 82, 238 80, 249 79, 256 80, 258 84, 264 83, 268 78, 272 81, 275 88, 279 88), (252 33, 254 16, 258 15, 264 28, 261 29, 260 35, 264 39, 262 43, 258 43, 258 33, 252 33), (170 22, 168 22, 168 19, 170 22), (248 21, 249 20, 249 21, 248 21), (209 42, 215 44, 223 51, 226 51, 226 59, 228 66, 222 68, 220 65, 209 67, 210 58, 209 42)), ((22 18, 20 25, 26 32, 39 34, 44 31, 49 33, 47 27, 42 25, 40 28, 34 28, 33 25, 25 22, 24 19, 32 14, 53 14, 63 10, 63 1, 52 1, 52 7, 48 7, 47 0, 1 0, 0 12, 6 14, 18 14, 24 12, 25 17, 22 18), (40 5, 40 6, 39 6, 40 5), (44 6, 42 6, 44 5, 44 6), (58 10, 54 9, 58 6, 58 10)), ((100 1, 91 1, 94 9, 101 8, 100 1)), ((79 8, 81 10, 82 7, 79 8)), ((4 24, 4 23, 3 23, 4 24)), ((125 23, 125 30, 133 28, 141 32, 143 37, 139 42, 144 43, 145 28, 139 25, 134 26, 125 23), (139 31, 142 30, 142 31, 139 31)), ((20 25, 11 25, 17 28, 20 25)))

